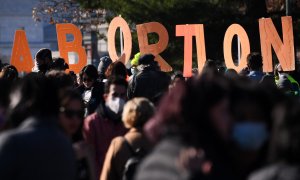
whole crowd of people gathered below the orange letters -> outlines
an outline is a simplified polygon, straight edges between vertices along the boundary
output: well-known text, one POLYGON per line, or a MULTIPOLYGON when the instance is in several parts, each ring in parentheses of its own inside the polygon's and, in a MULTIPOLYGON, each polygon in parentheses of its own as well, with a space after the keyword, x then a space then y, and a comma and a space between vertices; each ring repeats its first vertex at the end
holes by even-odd
POLYGON ((262 67, 254 52, 187 78, 137 53, 75 74, 49 49, 22 77, 1 64, 0 179, 298 180, 300 73, 262 67))

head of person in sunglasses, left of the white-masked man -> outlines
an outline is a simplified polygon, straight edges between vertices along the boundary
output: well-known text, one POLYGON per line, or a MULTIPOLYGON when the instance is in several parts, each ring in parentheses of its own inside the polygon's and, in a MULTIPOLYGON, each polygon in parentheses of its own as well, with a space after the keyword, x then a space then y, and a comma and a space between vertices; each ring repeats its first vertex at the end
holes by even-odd
POLYGON ((73 141, 80 140, 84 118, 84 103, 80 94, 74 90, 65 91, 60 99, 59 124, 73 141))

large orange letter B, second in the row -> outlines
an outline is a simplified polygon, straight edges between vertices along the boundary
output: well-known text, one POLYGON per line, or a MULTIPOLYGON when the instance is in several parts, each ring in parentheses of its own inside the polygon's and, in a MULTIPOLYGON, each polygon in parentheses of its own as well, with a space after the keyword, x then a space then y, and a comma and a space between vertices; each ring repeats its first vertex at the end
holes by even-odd
POLYGON ((59 53, 69 63, 68 52, 76 52, 78 55, 77 64, 69 64, 69 70, 79 73, 87 64, 85 49, 82 47, 82 35, 74 24, 56 24, 57 41, 59 53), (67 42, 67 34, 72 34, 74 40, 67 42))

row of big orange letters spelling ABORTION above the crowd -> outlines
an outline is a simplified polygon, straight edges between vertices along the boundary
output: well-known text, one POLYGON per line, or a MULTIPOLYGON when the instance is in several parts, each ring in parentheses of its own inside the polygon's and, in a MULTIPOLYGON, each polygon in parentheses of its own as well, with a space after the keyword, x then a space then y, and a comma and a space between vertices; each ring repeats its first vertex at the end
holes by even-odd
MULTIPOLYGON (((274 49, 277 58, 282 65, 284 71, 292 71, 295 69, 295 52, 294 52, 294 36, 292 17, 285 16, 281 18, 282 21, 282 36, 281 40, 273 22, 270 18, 259 19, 259 32, 261 41, 261 52, 263 56, 263 71, 273 71, 272 63, 272 48, 274 49)), ((60 56, 66 62, 68 61, 68 53, 76 52, 78 54, 78 62, 70 64, 71 71, 76 73, 86 65, 87 57, 85 49, 82 47, 82 35, 80 30, 73 24, 57 24, 57 40, 60 51, 60 56), (72 34, 74 40, 67 41, 67 34, 72 34)), ((163 71, 172 71, 172 67, 167 61, 160 56, 169 42, 169 34, 166 28, 158 22, 148 22, 136 25, 138 44, 141 54, 151 53, 155 56, 161 69, 163 71), (156 33, 158 35, 158 42, 149 44, 148 34, 156 33)), ((197 62, 198 69, 201 72, 205 61, 205 35, 203 24, 189 24, 176 25, 176 36, 184 37, 184 68, 183 73, 185 77, 192 75, 192 38, 196 38, 197 62)), ((115 17, 108 28, 108 52, 113 61, 120 59, 123 63, 127 63, 130 59, 132 51, 132 36, 127 22, 121 17, 115 17), (115 47, 115 33, 117 28, 121 28, 124 35, 124 52, 122 58, 118 57, 115 47)), ((246 67, 247 55, 251 52, 249 38, 241 25, 232 24, 228 27, 223 41, 224 60, 227 68, 240 71, 246 67), (237 35, 241 42, 242 54, 239 64, 235 65, 232 58, 232 39, 237 35)), ((30 57, 30 49, 26 39, 25 31, 17 30, 12 51, 11 64, 15 65, 19 71, 30 71, 33 67, 32 58, 30 57)))

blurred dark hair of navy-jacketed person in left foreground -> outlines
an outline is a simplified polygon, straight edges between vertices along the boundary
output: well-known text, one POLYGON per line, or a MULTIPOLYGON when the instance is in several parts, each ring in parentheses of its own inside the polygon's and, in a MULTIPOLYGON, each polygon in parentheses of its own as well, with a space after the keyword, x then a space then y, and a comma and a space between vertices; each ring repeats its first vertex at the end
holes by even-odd
POLYGON ((38 116, 39 120, 57 117, 59 101, 53 81, 42 74, 26 75, 10 94, 7 128, 17 127, 26 118, 38 116))

